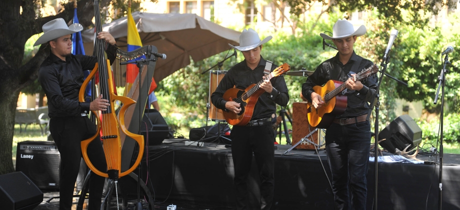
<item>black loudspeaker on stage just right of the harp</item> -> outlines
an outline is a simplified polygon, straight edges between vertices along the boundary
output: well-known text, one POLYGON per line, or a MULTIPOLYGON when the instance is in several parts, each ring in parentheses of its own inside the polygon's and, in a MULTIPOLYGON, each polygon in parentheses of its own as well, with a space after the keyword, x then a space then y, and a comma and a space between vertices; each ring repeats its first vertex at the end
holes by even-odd
POLYGON ((156 109, 145 109, 140 124, 140 132, 145 140, 148 137, 148 145, 160 144, 165 138, 169 138, 169 127, 161 113, 156 109))

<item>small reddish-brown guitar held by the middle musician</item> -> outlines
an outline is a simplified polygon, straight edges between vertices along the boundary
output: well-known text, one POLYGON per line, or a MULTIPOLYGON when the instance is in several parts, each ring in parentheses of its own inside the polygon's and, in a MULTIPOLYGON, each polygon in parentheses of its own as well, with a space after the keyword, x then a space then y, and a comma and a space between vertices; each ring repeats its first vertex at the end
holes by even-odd
MULTIPOLYGON (((279 76, 282 73, 285 73, 290 70, 290 66, 287 63, 284 63, 273 71, 270 74, 265 76, 265 79, 271 79, 273 77, 279 76)), ((229 88, 223 93, 223 99, 226 101, 233 100, 237 103, 240 103, 241 111, 235 113, 233 111, 223 112, 223 117, 231 125, 246 125, 247 122, 252 117, 254 111, 255 103, 258 100, 258 97, 265 92, 259 85, 263 82, 263 79, 256 84, 249 85, 246 89, 238 88, 229 88)))

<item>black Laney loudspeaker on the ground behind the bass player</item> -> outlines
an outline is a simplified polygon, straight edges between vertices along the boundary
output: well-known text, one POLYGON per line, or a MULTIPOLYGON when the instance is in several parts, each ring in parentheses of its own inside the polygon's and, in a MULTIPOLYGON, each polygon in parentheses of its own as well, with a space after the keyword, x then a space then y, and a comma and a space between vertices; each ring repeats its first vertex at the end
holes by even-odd
POLYGON ((22 171, 40 189, 59 189, 60 154, 54 141, 17 143, 16 171, 22 171))

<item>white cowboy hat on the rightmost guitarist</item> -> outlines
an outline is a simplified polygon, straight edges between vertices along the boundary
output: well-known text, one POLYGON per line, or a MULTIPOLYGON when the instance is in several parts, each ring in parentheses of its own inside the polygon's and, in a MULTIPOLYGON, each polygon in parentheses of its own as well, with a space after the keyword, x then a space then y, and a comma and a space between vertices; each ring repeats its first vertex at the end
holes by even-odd
POLYGON ((319 33, 321 37, 324 39, 336 39, 336 38, 344 38, 348 36, 361 36, 366 33, 366 27, 364 25, 359 26, 357 29, 354 29, 353 24, 346 19, 338 19, 333 28, 332 28, 332 36, 328 36, 324 33, 319 33))

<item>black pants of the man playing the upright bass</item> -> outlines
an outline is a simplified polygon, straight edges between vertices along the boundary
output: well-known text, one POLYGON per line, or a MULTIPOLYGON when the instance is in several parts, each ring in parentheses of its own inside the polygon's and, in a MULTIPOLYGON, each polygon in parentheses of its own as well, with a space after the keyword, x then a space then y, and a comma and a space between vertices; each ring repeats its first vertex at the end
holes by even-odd
MULTIPOLYGON (((93 122, 86 116, 53 117, 49 122, 49 131, 56 143, 61 158, 59 181, 59 210, 70 210, 73 188, 78 175, 81 158, 81 144, 96 132, 93 122)), ((107 164, 99 137, 88 145, 87 154, 94 167, 106 171, 107 164)), ((92 173, 89 179, 88 209, 100 209, 102 189, 105 178, 92 173)))

